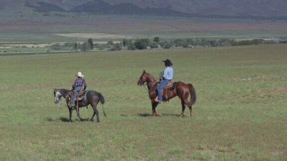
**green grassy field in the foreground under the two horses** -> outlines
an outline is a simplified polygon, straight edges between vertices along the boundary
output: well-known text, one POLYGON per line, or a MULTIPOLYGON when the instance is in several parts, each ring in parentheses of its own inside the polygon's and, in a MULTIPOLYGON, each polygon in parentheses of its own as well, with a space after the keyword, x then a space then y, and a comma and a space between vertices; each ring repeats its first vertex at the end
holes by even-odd
POLYGON ((287 45, 0 57, 0 160, 287 160, 287 45), (161 60, 195 86, 194 116, 176 97, 151 117, 143 70, 161 60), (53 87, 82 71, 108 117, 68 119, 53 87))

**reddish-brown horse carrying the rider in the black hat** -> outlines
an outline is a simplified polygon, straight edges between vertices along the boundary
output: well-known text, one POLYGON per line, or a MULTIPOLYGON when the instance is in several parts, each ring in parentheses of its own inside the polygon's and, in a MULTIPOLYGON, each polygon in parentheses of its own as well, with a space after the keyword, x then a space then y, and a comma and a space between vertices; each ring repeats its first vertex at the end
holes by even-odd
MULTIPOLYGON (((149 93, 149 98, 151 100, 151 106, 152 106, 152 116, 158 116, 158 113, 155 111, 155 107, 158 105, 158 102, 154 101, 156 97, 156 88, 158 85, 158 82, 154 79, 154 77, 145 71, 143 71, 142 76, 140 77, 138 81, 138 85, 144 85, 146 82, 147 88, 148 88, 148 93, 149 93)), ((167 93, 165 94, 167 97, 167 100, 178 96, 181 100, 181 105, 182 105, 182 110, 180 113, 179 117, 183 117, 185 105, 189 107, 189 112, 190 116, 193 115, 192 111, 192 105, 196 102, 196 93, 195 89, 192 84, 186 84, 181 81, 176 82, 175 89, 166 91, 167 93), (188 97, 190 95, 190 100, 188 100, 188 97)), ((162 93, 164 94, 164 93, 162 93)), ((163 97, 163 101, 167 101, 166 98, 163 97)))

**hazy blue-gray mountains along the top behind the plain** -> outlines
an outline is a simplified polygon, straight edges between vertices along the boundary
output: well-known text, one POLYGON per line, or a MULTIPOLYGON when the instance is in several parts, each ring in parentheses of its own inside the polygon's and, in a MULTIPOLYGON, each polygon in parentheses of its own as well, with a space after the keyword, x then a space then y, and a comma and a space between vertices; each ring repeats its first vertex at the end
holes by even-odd
POLYGON ((0 9, 137 15, 287 16, 287 0, 0 0, 0 9))

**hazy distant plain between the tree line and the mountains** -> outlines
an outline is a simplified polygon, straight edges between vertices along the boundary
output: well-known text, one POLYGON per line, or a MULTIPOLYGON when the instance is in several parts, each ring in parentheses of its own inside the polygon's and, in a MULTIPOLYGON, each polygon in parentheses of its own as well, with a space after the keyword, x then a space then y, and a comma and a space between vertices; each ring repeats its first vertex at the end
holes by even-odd
POLYGON ((153 38, 239 38, 287 37, 286 21, 164 17, 137 15, 93 15, 26 11, 0 11, 0 42, 55 43, 153 38))

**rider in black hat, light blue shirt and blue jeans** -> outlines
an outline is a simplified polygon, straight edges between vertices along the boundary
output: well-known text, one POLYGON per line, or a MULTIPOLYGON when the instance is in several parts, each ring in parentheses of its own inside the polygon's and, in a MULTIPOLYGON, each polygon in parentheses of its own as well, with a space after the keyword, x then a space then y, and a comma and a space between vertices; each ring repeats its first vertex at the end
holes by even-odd
POLYGON ((166 67, 163 71, 161 80, 159 81, 159 85, 157 87, 157 97, 155 98, 154 101, 156 102, 161 102, 162 101, 162 93, 161 89, 173 78, 173 68, 172 63, 170 62, 169 59, 166 59, 164 62, 164 66, 166 67))

